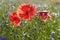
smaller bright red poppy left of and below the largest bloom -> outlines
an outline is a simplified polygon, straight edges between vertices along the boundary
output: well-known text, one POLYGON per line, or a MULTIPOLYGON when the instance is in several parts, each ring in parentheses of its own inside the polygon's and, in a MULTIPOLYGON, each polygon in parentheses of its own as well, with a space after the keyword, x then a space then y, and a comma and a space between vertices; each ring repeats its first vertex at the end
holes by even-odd
POLYGON ((10 13, 10 22, 13 23, 16 26, 19 26, 21 24, 21 20, 17 16, 16 12, 11 12, 10 13))

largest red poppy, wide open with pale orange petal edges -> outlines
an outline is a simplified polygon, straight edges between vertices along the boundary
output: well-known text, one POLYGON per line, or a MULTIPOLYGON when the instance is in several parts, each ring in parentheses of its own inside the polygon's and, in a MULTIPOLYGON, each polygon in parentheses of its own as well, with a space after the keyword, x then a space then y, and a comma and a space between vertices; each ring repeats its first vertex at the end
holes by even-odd
POLYGON ((17 9, 17 14, 19 17, 26 19, 26 21, 31 20, 36 12, 36 8, 30 4, 22 4, 17 9))

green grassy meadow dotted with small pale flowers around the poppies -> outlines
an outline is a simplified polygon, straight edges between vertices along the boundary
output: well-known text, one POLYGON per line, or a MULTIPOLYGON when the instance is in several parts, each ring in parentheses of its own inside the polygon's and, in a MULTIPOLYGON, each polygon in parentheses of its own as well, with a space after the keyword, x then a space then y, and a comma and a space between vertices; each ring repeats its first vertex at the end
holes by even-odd
POLYGON ((27 23, 22 19, 22 24, 15 27, 9 21, 9 12, 16 11, 20 4, 19 0, 0 0, 0 37, 5 37, 6 40, 60 40, 60 9, 55 4, 47 6, 31 3, 37 5, 37 11, 49 10, 52 18, 44 23, 35 15, 27 23))

